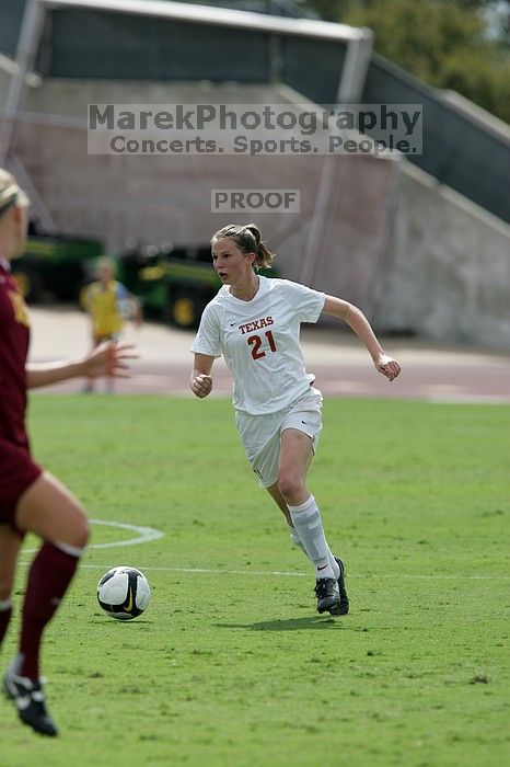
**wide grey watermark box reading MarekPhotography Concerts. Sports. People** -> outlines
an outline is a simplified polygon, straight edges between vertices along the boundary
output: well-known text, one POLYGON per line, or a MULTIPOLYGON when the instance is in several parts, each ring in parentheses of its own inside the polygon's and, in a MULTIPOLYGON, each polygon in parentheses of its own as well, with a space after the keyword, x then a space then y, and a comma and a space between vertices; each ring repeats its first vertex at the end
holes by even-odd
POLYGON ((89 104, 89 154, 420 154, 421 104, 89 104))

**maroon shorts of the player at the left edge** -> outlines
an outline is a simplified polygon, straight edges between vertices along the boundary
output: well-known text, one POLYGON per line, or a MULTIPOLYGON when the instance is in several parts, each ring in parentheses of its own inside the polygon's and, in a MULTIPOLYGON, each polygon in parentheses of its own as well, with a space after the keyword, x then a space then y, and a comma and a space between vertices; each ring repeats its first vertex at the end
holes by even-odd
POLYGON ((0 523, 15 524, 18 502, 42 472, 25 447, 0 437, 0 523))

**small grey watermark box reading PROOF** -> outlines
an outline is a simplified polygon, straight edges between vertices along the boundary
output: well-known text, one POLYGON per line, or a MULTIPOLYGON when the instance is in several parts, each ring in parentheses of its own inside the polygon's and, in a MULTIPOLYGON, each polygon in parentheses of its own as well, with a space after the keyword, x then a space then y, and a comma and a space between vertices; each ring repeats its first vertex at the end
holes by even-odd
POLYGON ((299 190, 211 190, 211 213, 299 213, 299 190))

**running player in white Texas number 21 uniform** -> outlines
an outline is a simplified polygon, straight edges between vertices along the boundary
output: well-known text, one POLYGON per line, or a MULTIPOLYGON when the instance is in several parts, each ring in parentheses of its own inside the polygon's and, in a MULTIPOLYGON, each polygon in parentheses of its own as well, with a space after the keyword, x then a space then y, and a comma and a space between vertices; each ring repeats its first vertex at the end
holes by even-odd
POLYGON ((344 563, 327 545, 317 504, 305 484, 322 428, 322 396, 305 371, 301 323, 316 322, 322 313, 338 317, 358 334, 390 381, 401 367, 352 304, 257 275, 274 254, 254 225, 229 225, 216 232, 211 245, 223 286, 204 310, 192 346, 192 391, 199 398, 211 392, 212 364, 223 355, 233 375, 235 421, 246 457, 283 512, 292 541, 313 564, 317 610, 345 615, 349 600, 344 563))

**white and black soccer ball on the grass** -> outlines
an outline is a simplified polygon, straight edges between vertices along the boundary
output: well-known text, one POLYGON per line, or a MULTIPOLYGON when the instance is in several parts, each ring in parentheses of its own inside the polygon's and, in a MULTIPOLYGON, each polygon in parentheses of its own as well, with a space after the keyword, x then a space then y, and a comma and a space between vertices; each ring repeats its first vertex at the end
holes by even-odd
POLYGON ((97 584, 97 602, 117 620, 138 618, 149 606, 150 598, 149 582, 136 568, 113 568, 97 584))

